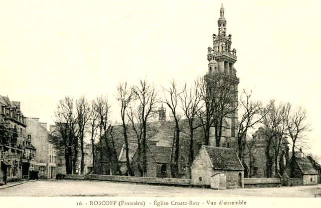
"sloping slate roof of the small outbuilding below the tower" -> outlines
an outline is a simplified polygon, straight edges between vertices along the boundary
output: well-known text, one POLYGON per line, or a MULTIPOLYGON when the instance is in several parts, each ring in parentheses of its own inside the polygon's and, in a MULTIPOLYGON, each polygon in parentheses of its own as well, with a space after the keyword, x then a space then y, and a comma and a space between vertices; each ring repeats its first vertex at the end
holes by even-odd
POLYGON ((244 170, 232 148, 202 146, 207 152, 214 170, 244 170))

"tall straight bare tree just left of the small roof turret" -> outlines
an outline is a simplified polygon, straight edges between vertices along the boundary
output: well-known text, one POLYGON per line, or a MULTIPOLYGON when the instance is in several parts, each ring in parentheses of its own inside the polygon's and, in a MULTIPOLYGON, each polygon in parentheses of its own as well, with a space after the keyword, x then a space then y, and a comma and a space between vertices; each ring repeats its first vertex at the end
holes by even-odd
POLYGON ((147 175, 147 122, 156 112, 156 104, 159 102, 157 91, 153 84, 148 83, 147 78, 140 80, 140 84, 134 88, 140 106, 140 116, 143 124, 143 177, 147 175))

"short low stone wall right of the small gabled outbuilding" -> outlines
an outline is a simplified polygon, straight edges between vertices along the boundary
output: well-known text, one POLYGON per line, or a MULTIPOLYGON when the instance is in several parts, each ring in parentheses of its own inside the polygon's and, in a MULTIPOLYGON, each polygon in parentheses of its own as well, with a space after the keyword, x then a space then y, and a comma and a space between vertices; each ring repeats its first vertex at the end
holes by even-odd
POLYGON ((281 187, 279 178, 244 178, 244 188, 252 187, 281 187))

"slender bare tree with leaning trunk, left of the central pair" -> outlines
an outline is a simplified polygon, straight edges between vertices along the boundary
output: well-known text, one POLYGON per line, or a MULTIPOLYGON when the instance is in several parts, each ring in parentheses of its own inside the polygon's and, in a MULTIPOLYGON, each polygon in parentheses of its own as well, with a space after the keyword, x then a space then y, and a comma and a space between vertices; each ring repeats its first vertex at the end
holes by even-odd
POLYGON ((123 123, 123 132, 124 132, 124 140, 125 140, 125 150, 126 150, 126 166, 128 175, 133 176, 133 170, 131 168, 130 160, 129 160, 129 146, 128 146, 128 135, 127 135, 127 127, 128 123, 126 121, 126 109, 129 104, 135 99, 135 93, 131 87, 128 87, 127 82, 119 83, 117 87, 117 101, 121 104, 121 117, 123 123))

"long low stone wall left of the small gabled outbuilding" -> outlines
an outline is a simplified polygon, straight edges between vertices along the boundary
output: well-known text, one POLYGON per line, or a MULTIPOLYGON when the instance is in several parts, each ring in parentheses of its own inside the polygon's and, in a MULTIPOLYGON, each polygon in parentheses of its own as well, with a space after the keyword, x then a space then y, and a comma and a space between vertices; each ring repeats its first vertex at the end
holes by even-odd
MULTIPOLYGON (((84 180, 85 175, 66 175, 65 179, 71 180, 84 180)), ((88 175, 87 180, 99 180, 99 181, 118 181, 118 182, 130 182, 130 183, 142 183, 142 184, 162 184, 162 185, 179 185, 189 186, 190 179, 176 179, 176 178, 143 178, 143 177, 130 177, 130 176, 109 176, 109 175, 88 175)))

